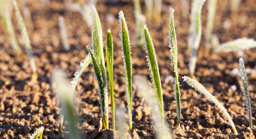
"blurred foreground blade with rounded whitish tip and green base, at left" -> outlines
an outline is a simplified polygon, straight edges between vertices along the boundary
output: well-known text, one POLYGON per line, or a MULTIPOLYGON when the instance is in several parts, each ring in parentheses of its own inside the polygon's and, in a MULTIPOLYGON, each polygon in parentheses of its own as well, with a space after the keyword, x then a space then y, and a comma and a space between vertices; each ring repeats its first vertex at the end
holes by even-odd
POLYGON ((80 139, 77 128, 78 116, 75 114, 74 96, 70 93, 70 84, 65 73, 61 70, 55 70, 52 73, 52 86, 54 92, 59 96, 64 115, 67 118, 69 125, 69 138, 80 139))

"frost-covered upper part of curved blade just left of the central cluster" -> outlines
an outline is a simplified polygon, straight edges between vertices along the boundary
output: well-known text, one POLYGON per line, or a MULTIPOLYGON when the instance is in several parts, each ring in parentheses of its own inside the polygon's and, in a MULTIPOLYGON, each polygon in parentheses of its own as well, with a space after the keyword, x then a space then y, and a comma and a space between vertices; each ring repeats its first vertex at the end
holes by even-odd
POLYGON ((74 94, 75 88, 77 86, 77 83, 78 83, 78 80, 79 80, 81 74, 83 73, 84 69, 90 64, 90 62, 91 62, 91 59, 90 59, 89 55, 87 57, 85 57, 85 59, 83 59, 80 62, 80 66, 76 70, 73 80, 70 82, 72 94, 74 94))

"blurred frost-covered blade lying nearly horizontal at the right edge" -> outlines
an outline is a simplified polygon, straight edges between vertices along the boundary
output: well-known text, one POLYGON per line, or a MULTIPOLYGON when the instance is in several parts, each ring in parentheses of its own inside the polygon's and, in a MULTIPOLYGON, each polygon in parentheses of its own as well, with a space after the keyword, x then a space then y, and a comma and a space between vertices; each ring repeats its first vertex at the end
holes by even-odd
POLYGON ((254 39, 240 38, 217 46, 215 52, 231 52, 254 47, 256 47, 256 41, 254 39))

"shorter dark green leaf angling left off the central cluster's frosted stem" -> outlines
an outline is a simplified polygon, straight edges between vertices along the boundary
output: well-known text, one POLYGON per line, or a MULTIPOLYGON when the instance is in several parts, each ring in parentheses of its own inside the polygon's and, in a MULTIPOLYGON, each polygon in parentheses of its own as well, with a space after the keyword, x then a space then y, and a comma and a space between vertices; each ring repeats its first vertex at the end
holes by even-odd
POLYGON ((96 57, 94 53, 92 52, 92 49, 90 48, 89 45, 86 46, 86 48, 89 51, 89 55, 92 60, 92 65, 94 68, 95 72, 95 77, 98 81, 98 86, 99 86, 99 95, 100 95, 100 104, 101 104, 101 113, 102 113, 102 126, 104 128, 108 129, 108 92, 106 90, 105 83, 103 81, 102 73, 101 73, 101 68, 99 64, 97 63, 96 57))

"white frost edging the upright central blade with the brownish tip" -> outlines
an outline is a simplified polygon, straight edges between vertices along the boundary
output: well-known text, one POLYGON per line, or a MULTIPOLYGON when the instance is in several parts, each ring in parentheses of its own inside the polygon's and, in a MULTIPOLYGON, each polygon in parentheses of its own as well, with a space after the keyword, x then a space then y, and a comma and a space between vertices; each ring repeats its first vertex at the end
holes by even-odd
MULTIPOLYGON (((130 50, 132 48, 131 46, 131 41, 130 41, 130 36, 129 36, 129 31, 128 31, 128 27, 127 27, 127 23, 126 23, 126 20, 125 20, 125 17, 124 17, 124 12, 123 11, 120 11, 119 12, 119 27, 120 27, 120 33, 119 33, 119 36, 120 36, 120 39, 121 39, 121 44, 122 44, 122 58, 123 58, 123 67, 124 67, 124 70, 125 70, 125 81, 126 81, 126 92, 129 92, 128 91, 128 79, 127 79, 127 71, 126 71, 126 63, 125 63, 125 56, 124 56, 124 50, 123 50, 123 33, 122 33, 122 30, 123 30, 123 27, 122 27, 122 19, 124 21, 124 27, 127 31, 127 35, 128 35, 128 44, 129 44, 129 47, 130 47, 130 50)), ((132 52, 131 52, 132 54, 132 52)), ((132 58, 131 58, 131 69, 132 69, 132 58)), ((132 74, 132 71, 131 71, 131 74, 132 74)), ((132 80, 131 80, 131 83, 132 83, 132 80)), ((132 85, 131 85, 131 102, 132 102, 132 85)), ((131 104, 131 107, 132 107, 132 104, 131 104)), ((129 123, 132 123, 132 110, 129 108, 129 95, 127 94, 127 109, 128 109, 128 115, 129 115, 129 123), (131 114, 131 115, 130 115, 131 114)), ((133 109, 133 107, 132 107, 133 109)))

